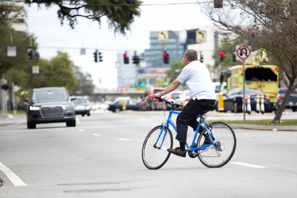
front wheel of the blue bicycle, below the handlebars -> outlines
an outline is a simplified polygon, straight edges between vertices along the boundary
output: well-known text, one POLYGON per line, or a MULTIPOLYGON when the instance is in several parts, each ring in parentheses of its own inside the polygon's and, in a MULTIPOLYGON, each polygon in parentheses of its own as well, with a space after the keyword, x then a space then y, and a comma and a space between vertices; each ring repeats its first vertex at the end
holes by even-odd
POLYGON ((153 128, 143 142, 142 162, 146 168, 159 169, 170 156, 167 149, 172 148, 173 145, 172 133, 168 127, 165 127, 161 133, 161 128, 161 125, 153 128))

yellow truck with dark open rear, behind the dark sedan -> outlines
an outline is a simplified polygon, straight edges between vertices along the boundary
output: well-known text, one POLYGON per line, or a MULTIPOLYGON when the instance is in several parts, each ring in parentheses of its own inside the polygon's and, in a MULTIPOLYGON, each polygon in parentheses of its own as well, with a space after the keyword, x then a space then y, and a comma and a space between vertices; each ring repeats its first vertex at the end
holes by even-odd
MULTIPOLYGON (((270 97, 272 112, 278 108, 279 72, 275 65, 245 65, 245 87, 261 90, 270 97)), ((221 72, 221 81, 227 82, 228 91, 243 88, 243 67, 236 65, 221 72)))

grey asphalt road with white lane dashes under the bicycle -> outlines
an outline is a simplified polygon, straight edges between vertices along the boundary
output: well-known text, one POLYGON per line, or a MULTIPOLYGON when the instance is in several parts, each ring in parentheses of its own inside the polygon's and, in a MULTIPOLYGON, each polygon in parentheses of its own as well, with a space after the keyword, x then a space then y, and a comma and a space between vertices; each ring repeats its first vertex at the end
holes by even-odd
MULTIPOLYGON (((76 127, 27 129, 24 118, 2 124, 0 197, 296 196, 297 133, 235 130, 235 155, 221 168, 172 155, 162 168, 149 170, 142 142, 162 122, 160 113, 98 111, 77 116, 76 127)), ((188 134, 191 139, 194 133, 188 134)))

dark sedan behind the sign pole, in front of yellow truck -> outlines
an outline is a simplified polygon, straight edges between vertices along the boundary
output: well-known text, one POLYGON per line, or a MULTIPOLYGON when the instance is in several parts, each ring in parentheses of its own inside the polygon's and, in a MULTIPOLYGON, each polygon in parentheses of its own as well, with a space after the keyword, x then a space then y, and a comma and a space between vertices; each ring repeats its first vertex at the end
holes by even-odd
MULTIPOLYGON (((247 103, 247 96, 250 96, 250 106, 251 111, 256 111, 256 104, 257 104, 257 95, 260 96, 260 104, 261 104, 261 96, 264 96, 264 107, 265 112, 268 112, 270 109, 270 97, 265 96, 265 94, 256 89, 245 89, 245 96, 246 96, 246 103, 247 103)), ((233 111, 235 113, 242 112, 242 99, 243 99, 243 89, 236 88, 230 90, 226 95, 223 96, 224 101, 224 112, 226 111, 233 111)))

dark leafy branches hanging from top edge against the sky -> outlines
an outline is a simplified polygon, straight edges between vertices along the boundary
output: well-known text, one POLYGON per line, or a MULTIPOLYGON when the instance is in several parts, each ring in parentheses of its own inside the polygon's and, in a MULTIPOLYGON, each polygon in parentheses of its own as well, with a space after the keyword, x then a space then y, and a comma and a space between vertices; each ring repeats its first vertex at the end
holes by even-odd
MULTIPOLYGON (((25 0, 25 2, 29 5, 32 3, 31 0, 25 0)), ((72 29, 77 24, 77 17, 98 21, 100 25, 101 17, 106 16, 109 27, 114 29, 114 33, 125 34, 130 30, 134 17, 140 16, 139 6, 128 5, 126 0, 39 0, 35 2, 39 7, 45 5, 49 8, 57 5, 60 8, 57 14, 61 25, 66 18, 72 29)), ((141 1, 135 1, 135 4, 141 3, 141 1)))

